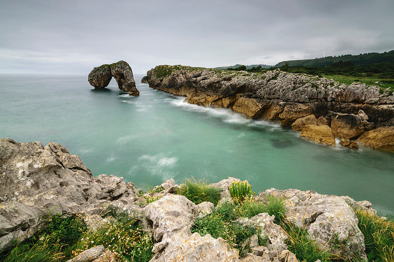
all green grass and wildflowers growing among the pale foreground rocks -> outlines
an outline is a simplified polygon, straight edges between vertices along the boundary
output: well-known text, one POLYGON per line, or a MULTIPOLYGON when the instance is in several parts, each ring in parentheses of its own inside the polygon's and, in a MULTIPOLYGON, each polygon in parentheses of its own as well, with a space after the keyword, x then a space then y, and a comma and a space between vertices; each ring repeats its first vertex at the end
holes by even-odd
MULTIPOLYGON (((269 243, 268 236, 262 233, 262 228, 242 221, 261 213, 268 213, 270 216, 275 216, 274 223, 287 235, 288 240, 285 243, 299 261, 315 262, 320 259, 322 262, 329 262, 361 259, 357 257, 348 259, 329 253, 328 246, 318 245, 308 231, 286 220, 287 207, 283 198, 272 195, 258 197, 247 181, 232 182, 229 187, 230 200, 221 202, 219 202, 221 190, 208 184, 206 179, 186 178, 179 188, 176 193, 186 196, 196 204, 210 201, 216 205, 212 212, 198 216, 193 221, 191 232, 197 232, 201 236, 209 233, 214 238, 222 237, 230 246, 238 249, 241 258, 252 251, 252 236, 257 236, 259 246, 267 246, 269 243)), ((163 190, 164 188, 159 186, 149 191, 160 193, 163 190)), ((382 218, 356 206, 353 208, 359 220, 358 226, 364 235, 368 260, 393 261, 393 219, 382 218)), ((104 220, 98 229, 92 230, 88 229, 83 214, 49 215, 44 219, 44 226, 31 238, 24 242, 15 242, 11 248, 0 253, 0 260, 61 262, 98 245, 106 248, 101 254, 102 259, 147 262, 153 257, 151 250, 155 241, 152 232, 144 228, 141 223, 144 220, 143 215, 132 216, 117 208, 107 208, 101 214, 101 218, 104 220)), ((334 235, 329 242, 333 243, 335 248, 344 248, 343 242, 346 240, 338 239, 334 235)))

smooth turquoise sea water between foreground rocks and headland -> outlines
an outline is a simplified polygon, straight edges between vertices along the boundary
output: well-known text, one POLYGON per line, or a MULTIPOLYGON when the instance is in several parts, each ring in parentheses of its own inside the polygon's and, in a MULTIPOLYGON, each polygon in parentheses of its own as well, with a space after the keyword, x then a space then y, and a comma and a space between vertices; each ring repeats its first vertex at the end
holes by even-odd
POLYGON ((394 214, 394 154, 320 146, 278 124, 204 108, 138 84, 139 97, 112 80, 95 90, 87 76, 0 75, 0 137, 48 141, 78 154, 95 176, 141 185, 174 178, 247 179, 275 187, 368 200, 394 214))

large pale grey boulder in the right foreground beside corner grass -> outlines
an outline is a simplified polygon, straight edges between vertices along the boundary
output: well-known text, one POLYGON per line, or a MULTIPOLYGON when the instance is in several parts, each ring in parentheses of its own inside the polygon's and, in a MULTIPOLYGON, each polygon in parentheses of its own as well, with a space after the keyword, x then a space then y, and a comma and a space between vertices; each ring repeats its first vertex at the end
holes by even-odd
POLYGON ((298 189, 265 190, 259 194, 283 197, 287 205, 286 220, 306 229, 321 248, 346 259, 357 256, 366 259, 364 236, 358 228, 353 209, 340 197, 320 195, 298 189), (340 243, 340 246, 337 246, 340 243))

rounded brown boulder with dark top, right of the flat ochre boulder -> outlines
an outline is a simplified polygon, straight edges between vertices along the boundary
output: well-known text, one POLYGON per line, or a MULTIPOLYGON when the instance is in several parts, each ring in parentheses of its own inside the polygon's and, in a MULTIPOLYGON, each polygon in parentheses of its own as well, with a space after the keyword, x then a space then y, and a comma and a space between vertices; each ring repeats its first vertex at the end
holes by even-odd
POLYGON ((364 132, 364 125, 360 116, 332 113, 331 130, 337 137, 350 139, 364 132))

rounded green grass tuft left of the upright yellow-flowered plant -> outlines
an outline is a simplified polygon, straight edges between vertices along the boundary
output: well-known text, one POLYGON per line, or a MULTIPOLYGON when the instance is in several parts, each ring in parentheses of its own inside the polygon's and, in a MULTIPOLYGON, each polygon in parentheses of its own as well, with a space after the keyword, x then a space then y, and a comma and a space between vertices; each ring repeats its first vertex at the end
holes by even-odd
POLYGON ((176 191, 178 195, 183 195, 195 204, 211 202, 217 205, 220 201, 221 189, 209 185, 206 179, 196 180, 194 177, 186 178, 185 183, 176 191))

